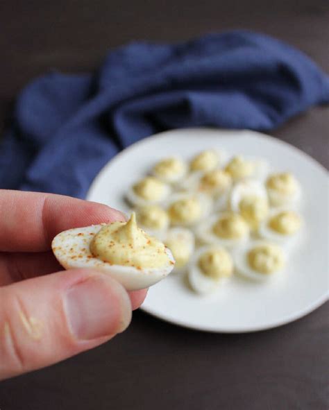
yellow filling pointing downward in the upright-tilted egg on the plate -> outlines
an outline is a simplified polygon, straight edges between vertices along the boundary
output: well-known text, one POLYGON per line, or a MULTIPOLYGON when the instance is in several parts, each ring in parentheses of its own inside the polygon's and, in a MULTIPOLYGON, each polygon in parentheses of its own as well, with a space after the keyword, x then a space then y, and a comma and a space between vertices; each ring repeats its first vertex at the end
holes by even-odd
POLYGON ((267 198, 248 195, 240 200, 239 210, 251 228, 256 229, 260 222, 266 219, 269 212, 269 203, 267 198))

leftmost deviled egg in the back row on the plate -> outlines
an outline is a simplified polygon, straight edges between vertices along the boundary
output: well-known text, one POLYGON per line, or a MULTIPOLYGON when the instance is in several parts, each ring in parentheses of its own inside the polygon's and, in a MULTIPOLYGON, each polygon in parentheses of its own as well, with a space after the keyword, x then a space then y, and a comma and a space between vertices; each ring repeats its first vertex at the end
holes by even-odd
POLYGON ((155 164, 152 173, 162 181, 179 182, 187 173, 187 164, 180 157, 168 157, 155 164))

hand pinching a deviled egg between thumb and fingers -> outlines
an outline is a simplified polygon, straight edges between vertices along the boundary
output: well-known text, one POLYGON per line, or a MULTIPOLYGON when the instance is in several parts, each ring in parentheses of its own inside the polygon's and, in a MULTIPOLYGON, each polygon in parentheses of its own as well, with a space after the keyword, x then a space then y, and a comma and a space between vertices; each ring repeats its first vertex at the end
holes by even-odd
POLYGON ((106 205, 0 190, 0 379, 94 348, 128 327, 146 291, 128 293, 92 269, 60 271, 50 250, 62 230, 119 220, 106 205))

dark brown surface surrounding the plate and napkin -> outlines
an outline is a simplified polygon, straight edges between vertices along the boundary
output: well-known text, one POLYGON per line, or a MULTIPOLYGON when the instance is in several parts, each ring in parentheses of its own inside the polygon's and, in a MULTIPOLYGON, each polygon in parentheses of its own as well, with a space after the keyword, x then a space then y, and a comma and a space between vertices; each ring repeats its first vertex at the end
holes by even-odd
MULTIPOLYGON (((174 42, 248 28, 329 71, 327 0, 0 0, 0 130, 15 94, 49 69, 87 71, 130 40, 174 42)), ((329 167, 329 110, 272 134, 329 167)), ((310 275, 312 267, 310 267, 310 275)), ((1 410, 328 410, 328 303, 255 334, 208 334, 141 311, 106 345, 0 384, 1 410)))

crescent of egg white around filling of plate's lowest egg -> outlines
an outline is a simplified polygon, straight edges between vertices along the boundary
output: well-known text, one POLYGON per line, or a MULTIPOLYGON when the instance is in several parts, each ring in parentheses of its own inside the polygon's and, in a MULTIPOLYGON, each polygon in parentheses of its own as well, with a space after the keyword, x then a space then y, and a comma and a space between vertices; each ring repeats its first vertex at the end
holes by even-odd
POLYGON ((214 279, 207 275, 204 275, 199 268, 199 258, 203 253, 212 250, 212 248, 219 248, 218 246, 203 246, 199 248, 189 262, 189 284, 192 289, 201 295, 207 295, 209 293, 214 293, 222 285, 228 282, 230 277, 219 277, 219 279, 214 279))

